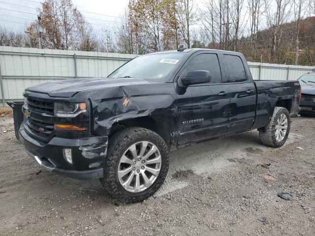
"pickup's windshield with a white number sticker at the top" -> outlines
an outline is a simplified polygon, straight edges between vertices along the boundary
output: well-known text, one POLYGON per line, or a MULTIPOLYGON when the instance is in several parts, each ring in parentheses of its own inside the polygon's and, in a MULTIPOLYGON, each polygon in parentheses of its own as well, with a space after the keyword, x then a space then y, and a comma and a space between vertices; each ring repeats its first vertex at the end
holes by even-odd
POLYGON ((183 53, 144 55, 127 62, 109 78, 143 78, 166 81, 166 76, 183 58, 183 53))

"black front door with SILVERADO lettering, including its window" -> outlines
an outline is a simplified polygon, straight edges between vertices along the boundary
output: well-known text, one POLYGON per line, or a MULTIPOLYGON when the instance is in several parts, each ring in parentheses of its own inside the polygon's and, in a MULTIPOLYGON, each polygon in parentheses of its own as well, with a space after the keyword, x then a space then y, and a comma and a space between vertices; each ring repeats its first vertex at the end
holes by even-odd
POLYGON ((207 84, 191 85, 177 92, 179 145, 209 139, 227 133, 229 123, 229 85, 222 83, 222 55, 201 51, 193 54, 179 72, 206 70, 211 80, 207 84))

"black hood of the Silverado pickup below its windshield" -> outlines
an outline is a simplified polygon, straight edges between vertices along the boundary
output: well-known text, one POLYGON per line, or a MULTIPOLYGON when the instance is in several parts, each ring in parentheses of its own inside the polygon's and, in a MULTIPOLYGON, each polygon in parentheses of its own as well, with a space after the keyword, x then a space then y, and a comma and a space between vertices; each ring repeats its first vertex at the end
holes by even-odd
POLYGON ((27 88, 31 92, 46 93, 51 97, 72 97, 77 92, 111 88, 126 85, 141 85, 149 84, 150 82, 144 79, 137 78, 80 78, 67 79, 45 83, 27 88))

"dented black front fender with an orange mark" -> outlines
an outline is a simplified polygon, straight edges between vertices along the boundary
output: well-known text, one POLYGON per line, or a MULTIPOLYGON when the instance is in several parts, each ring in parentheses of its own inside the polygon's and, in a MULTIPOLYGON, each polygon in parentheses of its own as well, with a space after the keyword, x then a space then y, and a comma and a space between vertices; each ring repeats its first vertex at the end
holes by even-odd
POLYGON ((176 93, 172 83, 143 83, 82 91, 92 104, 92 131, 95 136, 109 135, 113 124, 134 118, 161 118, 176 132, 176 93))

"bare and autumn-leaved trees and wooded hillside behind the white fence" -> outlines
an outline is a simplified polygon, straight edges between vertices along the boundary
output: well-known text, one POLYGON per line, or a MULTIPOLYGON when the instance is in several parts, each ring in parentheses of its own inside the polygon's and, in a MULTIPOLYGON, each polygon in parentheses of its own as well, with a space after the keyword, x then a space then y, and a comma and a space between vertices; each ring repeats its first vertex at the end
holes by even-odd
POLYGON ((315 64, 310 0, 129 0, 111 27, 95 19, 98 31, 72 0, 44 0, 37 11, 27 35, 0 27, 0 45, 38 47, 41 26, 48 49, 146 54, 184 44, 238 51, 249 61, 315 64))

